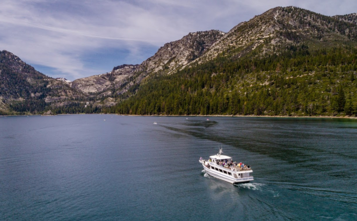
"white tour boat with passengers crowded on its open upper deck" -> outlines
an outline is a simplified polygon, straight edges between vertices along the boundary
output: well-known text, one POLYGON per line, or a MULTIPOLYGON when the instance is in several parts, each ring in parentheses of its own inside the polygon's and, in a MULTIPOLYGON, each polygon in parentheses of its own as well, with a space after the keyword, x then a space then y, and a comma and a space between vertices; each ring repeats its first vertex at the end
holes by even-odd
POLYGON ((253 180, 250 174, 253 170, 250 166, 240 165, 240 163, 233 162, 231 157, 221 155, 222 148, 217 155, 211 156, 209 160, 200 158, 199 162, 202 164, 204 170, 208 175, 223 179, 230 183, 244 183, 253 180))

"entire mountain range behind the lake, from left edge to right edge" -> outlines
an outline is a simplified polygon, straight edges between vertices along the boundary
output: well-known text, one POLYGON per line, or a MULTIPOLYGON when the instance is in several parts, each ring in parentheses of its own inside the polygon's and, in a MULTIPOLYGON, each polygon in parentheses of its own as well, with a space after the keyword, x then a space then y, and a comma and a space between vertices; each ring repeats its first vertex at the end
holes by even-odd
POLYGON ((141 64, 71 83, 5 54, 0 108, 7 112, 357 114, 356 13, 330 17, 276 7, 228 33, 189 33, 141 64))

